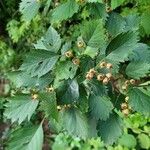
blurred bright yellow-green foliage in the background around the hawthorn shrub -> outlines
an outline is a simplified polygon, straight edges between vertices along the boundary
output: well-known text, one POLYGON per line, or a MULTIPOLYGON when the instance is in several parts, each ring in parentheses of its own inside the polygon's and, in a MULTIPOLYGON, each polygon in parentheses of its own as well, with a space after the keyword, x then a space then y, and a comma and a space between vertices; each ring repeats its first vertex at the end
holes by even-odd
MULTIPOLYGON (((9 124, 3 117, 4 97, 9 96, 10 91, 13 91, 13 87, 5 80, 5 73, 20 66, 24 54, 32 49, 32 43, 39 39, 50 25, 49 6, 46 2, 46 0, 42 1, 43 7, 32 21, 25 22, 18 11, 20 0, 0 0, 0 149, 3 149, 2 143, 5 144, 9 134, 9 124), (43 17, 45 14, 47 17, 43 17)), ((56 2, 59 3, 59 1, 56 2)), ((53 7, 55 4, 53 2, 53 7)), ((111 7, 122 16, 129 14, 140 16, 141 40, 150 45, 150 0, 112 0, 111 7)), ((77 21, 88 16, 89 12, 85 7, 81 15, 76 16, 77 21)), ((72 30, 70 27, 66 31, 66 27, 59 24, 55 26, 58 30, 63 29, 66 38, 72 30)), ((150 118, 135 113, 124 118, 124 122, 124 135, 113 146, 105 147, 100 138, 84 141, 66 133, 52 134, 48 143, 53 150, 150 149, 150 118)))

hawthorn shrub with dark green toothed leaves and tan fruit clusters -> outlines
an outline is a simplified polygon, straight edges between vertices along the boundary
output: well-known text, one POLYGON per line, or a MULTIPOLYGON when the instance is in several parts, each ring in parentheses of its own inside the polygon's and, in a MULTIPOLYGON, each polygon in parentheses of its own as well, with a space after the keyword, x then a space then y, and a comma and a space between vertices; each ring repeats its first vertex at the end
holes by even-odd
POLYGON ((49 134, 64 131, 112 145, 123 134, 123 118, 150 116, 150 48, 142 43, 150 34, 150 3, 130 2, 137 13, 127 15, 119 6, 129 2, 20 2, 24 24, 16 32, 17 22, 7 26, 13 42, 30 26, 41 31, 32 29, 23 62, 6 73, 14 87, 4 108, 13 128, 7 149, 41 150, 49 134), (36 40, 35 32, 42 37, 36 40))

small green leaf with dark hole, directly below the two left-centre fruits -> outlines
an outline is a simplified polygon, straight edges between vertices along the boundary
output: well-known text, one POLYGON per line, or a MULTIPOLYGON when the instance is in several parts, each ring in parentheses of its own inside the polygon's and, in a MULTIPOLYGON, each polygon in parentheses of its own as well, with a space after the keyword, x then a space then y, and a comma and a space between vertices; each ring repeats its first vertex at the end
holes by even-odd
POLYGON ((58 80, 62 79, 72 79, 74 78, 76 71, 78 69, 78 66, 73 64, 71 61, 62 61, 59 62, 58 65, 56 66, 56 78, 58 80))

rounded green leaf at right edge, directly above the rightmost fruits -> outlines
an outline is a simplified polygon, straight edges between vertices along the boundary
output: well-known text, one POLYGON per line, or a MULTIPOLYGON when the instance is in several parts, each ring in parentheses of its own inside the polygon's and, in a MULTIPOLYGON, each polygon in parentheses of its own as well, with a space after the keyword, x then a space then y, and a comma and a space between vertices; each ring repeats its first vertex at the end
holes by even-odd
POLYGON ((126 68, 127 76, 133 79, 140 79, 150 73, 150 64, 142 61, 133 61, 126 68))

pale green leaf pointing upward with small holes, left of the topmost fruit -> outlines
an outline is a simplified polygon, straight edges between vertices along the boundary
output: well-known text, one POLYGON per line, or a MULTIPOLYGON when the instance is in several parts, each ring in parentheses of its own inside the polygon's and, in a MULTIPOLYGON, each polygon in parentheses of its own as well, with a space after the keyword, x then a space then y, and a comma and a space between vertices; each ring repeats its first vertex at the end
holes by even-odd
POLYGON ((34 44, 34 46, 36 49, 43 49, 57 53, 61 46, 60 35, 50 26, 45 36, 37 41, 37 44, 34 44))

